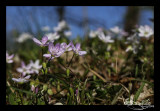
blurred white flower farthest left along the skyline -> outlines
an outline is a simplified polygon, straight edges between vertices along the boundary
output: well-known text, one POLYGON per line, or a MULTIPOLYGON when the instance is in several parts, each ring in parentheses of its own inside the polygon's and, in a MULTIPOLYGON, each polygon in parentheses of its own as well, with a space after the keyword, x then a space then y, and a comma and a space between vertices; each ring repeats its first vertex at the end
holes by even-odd
POLYGON ((33 36, 29 33, 22 33, 17 39, 16 41, 19 43, 23 43, 24 41, 26 41, 27 39, 31 39, 33 36))

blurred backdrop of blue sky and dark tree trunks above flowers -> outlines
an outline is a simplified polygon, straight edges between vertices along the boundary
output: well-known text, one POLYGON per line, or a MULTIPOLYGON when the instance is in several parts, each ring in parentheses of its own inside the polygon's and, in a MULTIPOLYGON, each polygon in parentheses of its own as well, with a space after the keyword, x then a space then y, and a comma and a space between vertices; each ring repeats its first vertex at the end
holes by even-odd
POLYGON ((119 26, 127 32, 135 25, 149 25, 154 18, 152 6, 7 6, 7 49, 12 50, 21 33, 34 37, 44 35, 43 27, 53 31, 59 21, 65 20, 72 32, 68 39, 82 39, 90 30, 119 26))

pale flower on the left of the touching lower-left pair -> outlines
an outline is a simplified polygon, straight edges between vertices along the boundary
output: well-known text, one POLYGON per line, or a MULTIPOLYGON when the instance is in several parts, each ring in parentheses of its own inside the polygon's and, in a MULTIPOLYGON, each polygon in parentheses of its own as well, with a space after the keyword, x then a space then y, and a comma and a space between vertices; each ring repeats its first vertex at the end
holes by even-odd
POLYGON ((21 62, 21 67, 17 68, 17 72, 22 73, 23 76, 33 73, 31 70, 31 65, 29 64, 26 66, 24 62, 21 62))

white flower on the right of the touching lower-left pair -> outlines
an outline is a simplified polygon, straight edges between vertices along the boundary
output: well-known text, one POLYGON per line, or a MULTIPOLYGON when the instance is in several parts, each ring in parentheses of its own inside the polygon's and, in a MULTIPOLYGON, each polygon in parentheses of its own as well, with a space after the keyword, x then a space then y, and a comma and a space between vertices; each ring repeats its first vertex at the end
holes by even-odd
POLYGON ((39 70, 42 68, 42 65, 39 65, 39 60, 36 60, 35 63, 31 60, 29 65, 31 67, 31 71, 36 74, 38 74, 39 70))

